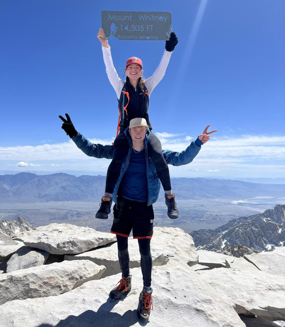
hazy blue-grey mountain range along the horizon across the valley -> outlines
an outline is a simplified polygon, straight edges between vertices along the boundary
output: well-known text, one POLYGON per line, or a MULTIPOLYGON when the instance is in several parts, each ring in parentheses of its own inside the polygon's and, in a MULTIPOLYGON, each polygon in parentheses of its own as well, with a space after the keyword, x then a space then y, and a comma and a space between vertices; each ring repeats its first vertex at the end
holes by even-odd
MULTIPOLYGON (((105 189, 105 179, 100 175, 76 177, 65 173, 0 175, 0 202, 98 201, 105 189)), ((285 194, 284 184, 205 178, 173 178, 171 183, 180 200, 276 198, 285 194)), ((163 192, 159 200, 164 201, 163 192)))

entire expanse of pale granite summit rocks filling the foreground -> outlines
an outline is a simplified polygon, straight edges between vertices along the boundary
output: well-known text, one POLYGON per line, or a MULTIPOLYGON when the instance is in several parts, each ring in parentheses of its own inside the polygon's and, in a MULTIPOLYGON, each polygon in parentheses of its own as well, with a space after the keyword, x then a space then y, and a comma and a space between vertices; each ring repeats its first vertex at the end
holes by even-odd
MULTIPOLYGON (((92 241, 88 242, 81 227, 68 224, 50 224, 13 236, 25 243, 17 252, 22 257, 39 252, 35 247, 40 246, 49 256, 68 260, 47 264, 49 257, 46 261, 44 257, 37 266, 21 268, 25 259, 20 262, 21 255, 16 255, 13 264, 19 260, 16 267, 21 269, 7 272, 0 266, 4 270, 0 274, 1 326, 87 327, 94 321, 102 327, 141 325, 136 317, 142 289, 140 267, 131 268, 132 290, 123 301, 109 299, 109 291, 121 278, 114 235, 86 232, 92 241), (104 245, 100 245, 102 240, 104 245), (55 248, 61 254, 50 254, 55 248), (109 268, 98 265, 102 260, 109 268)), ((130 257, 137 265, 136 243, 129 239, 130 257)), ((151 248, 154 310, 149 326, 173 327, 174 321, 179 326, 198 327, 283 325, 285 271, 280 267, 285 266, 285 247, 234 258, 196 251, 192 237, 179 228, 155 227, 151 248), (272 322, 277 320, 278 325, 272 322)), ((0 265, 5 262, 0 261, 0 265)))

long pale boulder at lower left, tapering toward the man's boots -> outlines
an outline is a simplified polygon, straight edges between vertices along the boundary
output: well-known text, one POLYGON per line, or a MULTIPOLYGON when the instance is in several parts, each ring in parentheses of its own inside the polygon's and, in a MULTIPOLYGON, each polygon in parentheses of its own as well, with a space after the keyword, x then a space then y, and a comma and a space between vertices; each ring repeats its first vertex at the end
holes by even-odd
MULTIPOLYGON (((63 261, 0 275, 0 306, 12 300, 55 296, 99 279, 104 266, 90 260, 63 261)), ((30 322, 29 322, 30 323, 30 322)))

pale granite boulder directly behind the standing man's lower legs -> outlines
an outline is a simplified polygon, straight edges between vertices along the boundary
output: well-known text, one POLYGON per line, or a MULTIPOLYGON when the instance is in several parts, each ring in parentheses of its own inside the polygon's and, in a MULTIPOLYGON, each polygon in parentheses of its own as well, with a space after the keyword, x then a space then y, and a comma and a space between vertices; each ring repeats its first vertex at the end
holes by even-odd
MULTIPOLYGON (((140 267, 140 253, 137 239, 128 239, 130 268, 140 267)), ((207 251, 206 251, 207 252, 207 251)), ((190 266, 198 262, 192 237, 180 228, 154 227, 151 239, 152 265, 162 266, 169 260, 181 261, 190 266), (171 255, 171 256, 169 256, 171 255)), ((222 256, 222 254, 221 254, 222 256)), ((65 255, 65 260, 91 260, 106 267, 103 277, 119 273, 117 243, 76 255, 65 255)))

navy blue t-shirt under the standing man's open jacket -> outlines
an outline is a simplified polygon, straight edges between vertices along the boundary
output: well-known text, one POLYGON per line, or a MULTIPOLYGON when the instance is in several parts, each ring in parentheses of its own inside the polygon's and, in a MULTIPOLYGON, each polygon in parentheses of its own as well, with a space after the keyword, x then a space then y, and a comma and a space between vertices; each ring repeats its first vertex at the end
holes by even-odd
POLYGON ((130 163, 120 183, 119 193, 129 200, 147 202, 149 194, 145 149, 136 152, 132 149, 130 163))

